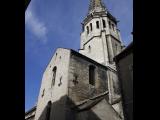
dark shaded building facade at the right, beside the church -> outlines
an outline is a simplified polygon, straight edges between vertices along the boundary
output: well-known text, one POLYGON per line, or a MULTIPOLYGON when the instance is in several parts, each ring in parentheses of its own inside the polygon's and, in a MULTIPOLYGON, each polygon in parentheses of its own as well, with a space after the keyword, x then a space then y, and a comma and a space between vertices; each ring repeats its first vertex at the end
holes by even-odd
POLYGON ((115 58, 121 86, 124 116, 133 120, 133 42, 115 58))

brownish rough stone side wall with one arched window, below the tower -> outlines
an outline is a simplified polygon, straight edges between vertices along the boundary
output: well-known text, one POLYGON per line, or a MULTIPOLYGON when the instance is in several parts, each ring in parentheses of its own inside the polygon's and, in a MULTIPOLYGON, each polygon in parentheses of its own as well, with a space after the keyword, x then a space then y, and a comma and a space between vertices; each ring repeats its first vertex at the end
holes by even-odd
POLYGON ((69 67, 69 97, 80 102, 108 90, 107 69, 72 54, 69 67), (95 66, 95 86, 89 84, 89 66, 95 66), (75 82, 76 81, 76 82, 75 82))

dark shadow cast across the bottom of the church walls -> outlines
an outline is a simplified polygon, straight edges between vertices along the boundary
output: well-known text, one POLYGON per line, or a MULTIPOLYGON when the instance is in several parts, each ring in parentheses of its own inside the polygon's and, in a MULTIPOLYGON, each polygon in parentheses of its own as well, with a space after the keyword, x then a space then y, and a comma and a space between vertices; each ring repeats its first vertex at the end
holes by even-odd
POLYGON ((46 105, 38 120, 101 120, 92 110, 80 111, 74 102, 63 96, 60 100, 46 105))

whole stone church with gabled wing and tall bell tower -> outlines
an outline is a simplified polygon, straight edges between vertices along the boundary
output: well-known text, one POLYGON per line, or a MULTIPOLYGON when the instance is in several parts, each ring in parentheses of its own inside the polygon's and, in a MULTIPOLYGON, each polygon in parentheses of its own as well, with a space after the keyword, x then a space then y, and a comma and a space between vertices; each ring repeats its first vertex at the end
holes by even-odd
POLYGON ((113 59, 125 48, 117 22, 102 0, 90 0, 80 49, 57 48, 26 120, 124 120, 113 59))

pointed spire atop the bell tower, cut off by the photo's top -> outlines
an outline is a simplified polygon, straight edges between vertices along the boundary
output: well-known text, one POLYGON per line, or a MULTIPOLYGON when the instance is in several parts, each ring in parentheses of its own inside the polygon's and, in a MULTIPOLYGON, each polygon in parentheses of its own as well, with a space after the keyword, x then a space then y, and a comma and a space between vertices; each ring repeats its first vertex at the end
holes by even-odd
POLYGON ((102 0, 90 0, 88 14, 102 11, 106 11, 106 7, 102 0))

